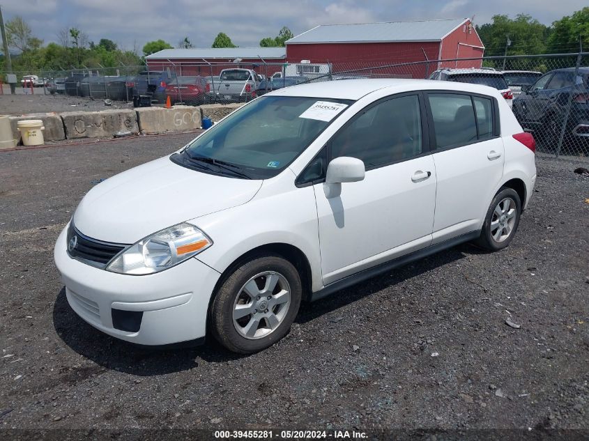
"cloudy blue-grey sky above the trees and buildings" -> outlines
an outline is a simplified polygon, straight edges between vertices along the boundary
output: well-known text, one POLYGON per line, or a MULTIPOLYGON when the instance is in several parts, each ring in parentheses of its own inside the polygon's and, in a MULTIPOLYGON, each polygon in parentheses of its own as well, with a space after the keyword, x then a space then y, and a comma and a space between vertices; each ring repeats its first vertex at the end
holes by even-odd
POLYGON ((188 36, 194 47, 211 47, 219 32, 235 45, 258 46, 288 26, 295 35, 318 24, 434 20, 475 16, 475 24, 495 14, 532 15, 551 24, 586 6, 586 0, 0 0, 4 21, 20 15, 45 43, 76 27, 90 41, 109 38, 119 47, 141 48, 162 39, 174 47, 188 36))

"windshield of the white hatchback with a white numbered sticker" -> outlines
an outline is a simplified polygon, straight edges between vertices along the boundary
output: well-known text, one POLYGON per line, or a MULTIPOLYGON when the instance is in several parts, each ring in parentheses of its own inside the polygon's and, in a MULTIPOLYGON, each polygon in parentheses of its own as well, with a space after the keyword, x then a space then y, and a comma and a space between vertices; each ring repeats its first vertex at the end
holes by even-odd
POLYGON ((331 98, 263 96, 213 125, 171 160, 208 173, 271 178, 351 103, 331 98))

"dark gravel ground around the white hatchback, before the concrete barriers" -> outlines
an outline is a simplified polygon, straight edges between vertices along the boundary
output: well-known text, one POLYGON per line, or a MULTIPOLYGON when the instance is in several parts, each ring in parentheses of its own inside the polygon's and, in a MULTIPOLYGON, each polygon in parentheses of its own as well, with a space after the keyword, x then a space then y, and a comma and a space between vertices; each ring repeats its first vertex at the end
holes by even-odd
POLYGON ((575 162, 537 159, 503 252, 462 245, 305 304, 256 355, 213 341, 149 351, 77 318, 52 248, 92 180, 188 139, 0 153, 0 428, 589 436, 589 178, 575 162))

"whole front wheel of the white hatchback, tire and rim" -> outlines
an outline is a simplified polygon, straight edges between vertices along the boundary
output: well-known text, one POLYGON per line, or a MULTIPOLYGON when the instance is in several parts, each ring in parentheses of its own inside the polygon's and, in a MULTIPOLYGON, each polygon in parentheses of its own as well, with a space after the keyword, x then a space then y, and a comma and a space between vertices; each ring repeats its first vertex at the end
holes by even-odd
POLYGON ((227 349, 255 353, 282 339, 298 313, 303 289, 284 258, 259 255, 240 265, 211 306, 211 331, 227 349))

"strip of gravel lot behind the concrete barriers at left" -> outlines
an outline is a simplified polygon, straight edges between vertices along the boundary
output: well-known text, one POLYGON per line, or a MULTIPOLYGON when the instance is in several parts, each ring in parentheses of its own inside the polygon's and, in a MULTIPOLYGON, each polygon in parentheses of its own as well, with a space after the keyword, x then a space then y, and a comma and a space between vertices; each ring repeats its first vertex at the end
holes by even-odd
POLYGON ((46 112, 62 111, 91 111, 105 109, 132 109, 132 102, 116 101, 111 107, 105 106, 104 100, 91 100, 89 98, 69 95, 43 95, 43 88, 35 88, 35 94, 24 95, 22 88, 17 88, 17 95, 4 92, 0 95, 0 114, 22 115, 39 114, 46 112))

